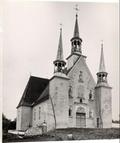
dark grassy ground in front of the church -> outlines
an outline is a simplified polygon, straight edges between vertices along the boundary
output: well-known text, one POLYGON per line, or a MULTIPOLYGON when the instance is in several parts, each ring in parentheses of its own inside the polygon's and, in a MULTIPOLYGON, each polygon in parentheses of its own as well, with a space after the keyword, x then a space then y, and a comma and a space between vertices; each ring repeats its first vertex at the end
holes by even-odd
POLYGON ((70 140, 68 134, 72 134, 72 140, 94 140, 94 139, 119 139, 120 128, 111 129, 83 129, 83 128, 68 128, 57 129, 55 132, 50 131, 46 135, 38 135, 31 137, 19 138, 17 135, 4 134, 3 142, 36 142, 36 141, 55 141, 55 140, 70 140))

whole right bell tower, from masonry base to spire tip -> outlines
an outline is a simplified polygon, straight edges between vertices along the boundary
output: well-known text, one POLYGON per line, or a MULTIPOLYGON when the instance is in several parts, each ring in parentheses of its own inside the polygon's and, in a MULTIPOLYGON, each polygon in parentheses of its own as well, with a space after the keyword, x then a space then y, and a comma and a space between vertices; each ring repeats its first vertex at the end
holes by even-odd
POLYGON ((97 73, 97 85, 95 87, 96 98, 96 127, 112 127, 112 105, 111 105, 111 87, 107 81, 107 75, 103 54, 103 43, 101 44, 101 57, 99 72, 97 73))

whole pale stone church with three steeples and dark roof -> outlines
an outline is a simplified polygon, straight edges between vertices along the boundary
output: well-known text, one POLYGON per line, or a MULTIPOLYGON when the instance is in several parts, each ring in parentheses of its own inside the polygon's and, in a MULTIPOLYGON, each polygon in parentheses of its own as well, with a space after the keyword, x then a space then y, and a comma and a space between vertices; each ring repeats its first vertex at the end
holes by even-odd
POLYGON ((111 128, 111 87, 107 81, 103 44, 97 83, 82 53, 78 14, 75 17, 71 53, 63 58, 62 28, 54 74, 50 79, 30 76, 17 106, 17 130, 46 124, 47 131, 54 128, 111 128))

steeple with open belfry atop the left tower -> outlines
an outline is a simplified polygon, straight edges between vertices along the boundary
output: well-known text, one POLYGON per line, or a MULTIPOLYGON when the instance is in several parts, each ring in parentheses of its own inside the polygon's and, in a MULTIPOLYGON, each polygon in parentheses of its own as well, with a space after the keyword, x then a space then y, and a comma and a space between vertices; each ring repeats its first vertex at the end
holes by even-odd
POLYGON ((63 45, 62 45, 62 28, 60 28, 60 37, 59 37, 59 44, 58 44, 58 51, 57 51, 57 57, 54 63, 54 72, 64 72, 65 68, 65 61, 63 59, 63 45))

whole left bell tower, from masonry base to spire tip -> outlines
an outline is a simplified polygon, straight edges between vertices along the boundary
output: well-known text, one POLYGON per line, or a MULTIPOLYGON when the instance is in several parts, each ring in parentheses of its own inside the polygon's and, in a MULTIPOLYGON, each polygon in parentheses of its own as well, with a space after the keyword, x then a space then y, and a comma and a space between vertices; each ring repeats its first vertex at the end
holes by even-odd
MULTIPOLYGON (((56 119, 56 128, 68 127, 68 84, 69 78, 64 73, 65 61, 63 59, 62 46, 62 28, 60 28, 60 37, 57 50, 56 60, 54 64, 54 75, 49 83, 49 95, 54 105, 54 113, 56 119)), ((50 110, 50 108, 49 108, 50 110)), ((50 111, 51 112, 51 111, 50 111)), ((54 120, 49 122, 49 128, 54 126, 54 120)))

